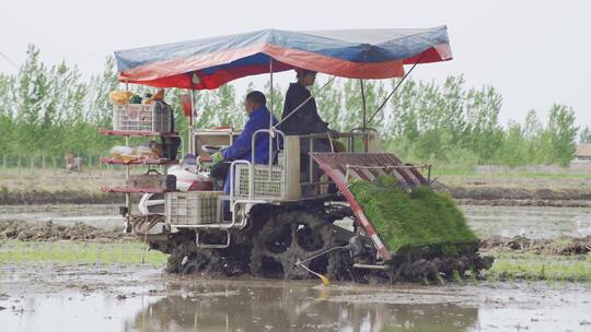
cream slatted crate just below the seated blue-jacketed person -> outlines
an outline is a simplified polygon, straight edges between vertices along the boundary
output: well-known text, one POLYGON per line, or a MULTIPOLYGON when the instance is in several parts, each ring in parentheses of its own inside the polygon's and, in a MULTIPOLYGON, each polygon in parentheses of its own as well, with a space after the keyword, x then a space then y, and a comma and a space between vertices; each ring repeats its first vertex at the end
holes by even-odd
MULTIPOLYGON (((234 194, 247 198, 250 193, 248 165, 237 164, 234 177, 234 194)), ((279 199, 285 195, 286 175, 283 167, 271 166, 269 177, 268 165, 254 165, 254 198, 279 199)))

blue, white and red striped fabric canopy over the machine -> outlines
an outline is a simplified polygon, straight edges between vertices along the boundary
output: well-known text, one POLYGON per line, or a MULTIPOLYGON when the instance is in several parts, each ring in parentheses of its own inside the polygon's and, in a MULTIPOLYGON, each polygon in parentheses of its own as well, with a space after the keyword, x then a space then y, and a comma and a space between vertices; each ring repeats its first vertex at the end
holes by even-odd
POLYGON ((445 26, 246 34, 115 52, 119 81, 217 88, 247 75, 303 68, 349 79, 390 79, 403 64, 451 60, 445 26))

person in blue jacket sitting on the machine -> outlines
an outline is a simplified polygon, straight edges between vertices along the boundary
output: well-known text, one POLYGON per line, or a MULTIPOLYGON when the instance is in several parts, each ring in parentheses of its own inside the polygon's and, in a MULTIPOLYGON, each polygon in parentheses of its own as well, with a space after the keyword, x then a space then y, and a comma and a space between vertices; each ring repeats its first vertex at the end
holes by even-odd
MULTIPOLYGON (((223 182, 223 191, 230 193, 230 177, 228 171, 232 161, 243 159, 255 164, 265 164, 269 162, 269 135, 259 133, 255 141, 255 159, 252 161, 252 140, 255 131, 269 128, 269 110, 267 109, 267 99, 259 91, 253 91, 246 95, 244 102, 248 120, 240 137, 232 145, 211 155, 213 166, 211 167, 211 177, 213 178, 215 189, 219 190, 220 182, 223 182)), ((273 123, 277 123, 275 116, 273 123)), ((277 151, 274 144, 273 151, 277 151)), ((274 157, 274 156, 270 156, 274 157)))

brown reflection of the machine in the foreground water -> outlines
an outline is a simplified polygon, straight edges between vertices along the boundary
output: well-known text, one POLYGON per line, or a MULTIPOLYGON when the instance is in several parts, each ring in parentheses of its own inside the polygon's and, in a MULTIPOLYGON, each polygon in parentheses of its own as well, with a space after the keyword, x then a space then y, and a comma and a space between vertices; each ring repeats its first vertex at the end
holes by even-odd
POLYGON ((201 285, 147 305, 125 331, 466 331, 478 319, 476 308, 451 304, 344 298, 333 289, 201 285))

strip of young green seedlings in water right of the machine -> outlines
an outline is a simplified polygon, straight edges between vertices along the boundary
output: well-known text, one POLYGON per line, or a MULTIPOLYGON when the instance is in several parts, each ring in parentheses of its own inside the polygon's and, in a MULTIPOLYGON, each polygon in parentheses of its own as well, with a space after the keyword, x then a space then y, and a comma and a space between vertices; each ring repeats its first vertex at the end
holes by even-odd
POLYGON ((534 253, 495 253, 488 280, 525 280, 591 283, 591 256, 540 256, 534 253))

